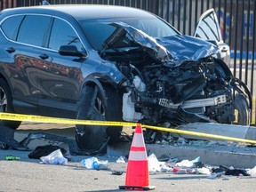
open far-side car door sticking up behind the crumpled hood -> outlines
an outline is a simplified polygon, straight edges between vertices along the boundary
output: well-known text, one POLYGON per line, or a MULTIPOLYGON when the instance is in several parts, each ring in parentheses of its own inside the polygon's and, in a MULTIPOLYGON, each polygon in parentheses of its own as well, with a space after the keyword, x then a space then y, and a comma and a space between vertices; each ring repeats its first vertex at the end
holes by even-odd
POLYGON ((228 44, 223 42, 220 24, 213 9, 204 12, 199 18, 194 36, 216 44, 219 47, 217 57, 229 63, 230 49, 228 44))

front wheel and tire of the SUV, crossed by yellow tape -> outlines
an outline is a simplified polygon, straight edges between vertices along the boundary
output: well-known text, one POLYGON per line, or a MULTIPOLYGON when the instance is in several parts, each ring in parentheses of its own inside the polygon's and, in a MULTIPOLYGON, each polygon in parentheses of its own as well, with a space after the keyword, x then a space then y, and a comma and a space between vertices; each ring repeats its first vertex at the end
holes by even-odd
MULTIPOLYGON (((97 121, 121 121, 122 100, 116 90, 105 86, 100 92, 97 85, 85 85, 77 110, 77 119, 97 121)), ((108 144, 116 143, 122 127, 105 125, 76 125, 76 143, 84 150, 99 149, 106 140, 108 144)))

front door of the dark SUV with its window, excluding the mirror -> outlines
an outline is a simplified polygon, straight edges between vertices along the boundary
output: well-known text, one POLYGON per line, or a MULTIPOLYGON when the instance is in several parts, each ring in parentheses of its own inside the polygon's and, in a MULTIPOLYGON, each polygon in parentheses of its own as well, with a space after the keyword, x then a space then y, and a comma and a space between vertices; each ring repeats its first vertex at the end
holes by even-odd
POLYGON ((70 23, 52 18, 52 28, 45 43, 47 50, 37 68, 38 106, 41 115, 70 117, 76 114, 84 58, 60 55, 58 50, 61 45, 75 45, 77 50, 84 51, 84 46, 70 23))

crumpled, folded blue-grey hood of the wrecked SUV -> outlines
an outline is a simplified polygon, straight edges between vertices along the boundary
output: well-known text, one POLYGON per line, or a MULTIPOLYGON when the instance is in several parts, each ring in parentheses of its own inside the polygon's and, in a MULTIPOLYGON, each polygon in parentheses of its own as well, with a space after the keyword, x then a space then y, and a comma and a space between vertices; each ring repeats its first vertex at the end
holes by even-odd
POLYGON ((179 66, 184 61, 207 58, 218 52, 216 45, 193 36, 176 35, 154 38, 125 23, 115 22, 110 25, 116 27, 116 30, 111 36, 108 36, 100 52, 109 48, 118 49, 124 46, 124 43, 125 46, 132 47, 135 44, 144 48, 153 59, 172 65, 172 67, 179 66), (129 42, 127 36, 130 36, 129 42))

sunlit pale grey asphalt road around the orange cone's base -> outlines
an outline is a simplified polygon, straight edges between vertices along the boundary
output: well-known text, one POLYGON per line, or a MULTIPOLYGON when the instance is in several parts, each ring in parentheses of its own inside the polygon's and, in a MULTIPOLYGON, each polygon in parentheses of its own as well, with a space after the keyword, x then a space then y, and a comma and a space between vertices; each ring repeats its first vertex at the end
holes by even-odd
MULTIPOLYGON (((1 151, 1 156, 3 155, 1 151)), ((16 155, 20 155, 22 160, 0 161, 0 191, 124 191, 119 190, 119 186, 124 185, 125 172, 113 175, 111 171, 125 171, 126 164, 111 162, 108 163, 111 170, 96 171, 84 169, 76 162, 68 165, 39 164, 38 161, 28 161, 24 152, 16 155)), ((149 174, 149 185, 156 186, 155 191, 163 192, 254 192, 256 188, 256 180, 251 177, 223 176, 214 180, 207 177, 156 173, 149 174)))

